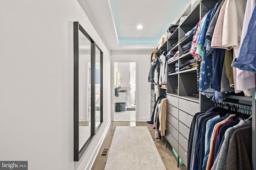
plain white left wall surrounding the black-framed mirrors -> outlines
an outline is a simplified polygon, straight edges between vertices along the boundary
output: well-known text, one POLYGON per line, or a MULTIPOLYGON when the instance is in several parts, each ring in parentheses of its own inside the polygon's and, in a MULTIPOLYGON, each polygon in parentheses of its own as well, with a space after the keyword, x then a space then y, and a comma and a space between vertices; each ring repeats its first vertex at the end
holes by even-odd
POLYGON ((110 53, 76 0, 0 1, 0 160, 30 170, 90 168, 110 123, 110 53), (104 53, 104 123, 73 158, 73 21, 104 53))

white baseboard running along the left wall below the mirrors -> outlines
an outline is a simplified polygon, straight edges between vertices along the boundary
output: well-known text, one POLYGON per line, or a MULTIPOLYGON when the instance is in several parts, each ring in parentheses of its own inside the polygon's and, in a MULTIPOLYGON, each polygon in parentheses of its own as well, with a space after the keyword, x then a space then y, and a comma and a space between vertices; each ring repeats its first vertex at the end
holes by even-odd
POLYGON ((100 138, 100 140, 99 140, 99 142, 98 142, 98 145, 97 145, 97 147, 96 147, 96 150, 94 151, 94 154, 92 155, 91 160, 90 160, 90 162, 89 162, 87 168, 85 168, 86 170, 92 169, 92 166, 93 166, 93 164, 94 164, 94 161, 96 160, 96 158, 97 158, 97 156, 98 156, 98 153, 100 152, 100 148, 101 148, 101 146, 102 146, 102 144, 103 144, 103 142, 104 142, 104 139, 105 139, 105 137, 106 137, 106 135, 107 135, 107 133, 108 133, 108 129, 109 129, 109 127, 110 127, 110 124, 111 124, 111 119, 109 119, 109 121, 108 121, 107 128, 104 130, 104 132, 103 132, 103 134, 102 134, 102 136, 101 136, 101 138, 100 138))

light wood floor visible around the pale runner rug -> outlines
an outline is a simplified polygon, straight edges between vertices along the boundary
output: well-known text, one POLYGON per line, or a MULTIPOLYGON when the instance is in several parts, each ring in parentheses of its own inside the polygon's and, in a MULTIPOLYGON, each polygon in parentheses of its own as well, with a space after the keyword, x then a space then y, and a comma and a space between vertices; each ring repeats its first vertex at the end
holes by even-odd
POLYGON ((162 141, 161 139, 156 139, 154 137, 154 129, 152 128, 152 124, 135 121, 113 121, 111 123, 110 128, 108 129, 108 133, 103 141, 100 152, 98 153, 98 156, 92 166, 92 170, 104 170, 107 162, 107 157, 100 157, 100 154, 102 153, 102 150, 104 148, 110 148, 116 126, 147 126, 150 134, 152 135, 152 139, 156 144, 156 148, 158 149, 158 152, 164 162, 166 170, 186 170, 186 166, 182 164, 180 164, 179 168, 177 167, 177 158, 174 155, 170 144, 168 143, 168 147, 166 148, 165 140, 162 141))

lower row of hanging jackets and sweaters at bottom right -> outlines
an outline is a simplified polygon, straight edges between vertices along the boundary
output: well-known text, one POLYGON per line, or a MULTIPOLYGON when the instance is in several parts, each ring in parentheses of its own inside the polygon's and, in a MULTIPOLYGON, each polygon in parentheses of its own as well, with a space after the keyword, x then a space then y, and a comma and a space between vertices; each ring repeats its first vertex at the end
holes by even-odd
MULTIPOLYGON (((232 158, 233 152, 237 152, 236 154, 240 154, 240 152, 242 152, 242 150, 239 149, 238 152, 237 145, 244 145, 244 143, 248 141, 250 143, 252 142, 252 139, 247 140, 248 137, 245 135, 245 140, 242 141, 241 144, 236 143, 231 146, 229 143, 229 139, 232 137, 234 138, 232 135, 234 131, 247 127, 250 124, 251 121, 248 120, 249 116, 250 115, 244 115, 234 111, 222 109, 220 107, 212 107, 205 113, 196 113, 190 126, 187 169, 228 169, 228 163, 226 162, 226 160, 228 161, 228 157, 230 156, 230 158, 232 158), (232 137, 229 138, 228 136, 232 137), (229 144, 227 144, 227 142, 229 144), (230 153, 226 152, 226 154, 223 154, 223 152, 227 150, 232 151, 230 151, 230 153), (224 164, 225 166, 223 166, 224 164)), ((249 144, 246 143, 246 145, 249 144)), ((251 146, 252 144, 250 144, 250 147, 251 146)), ((243 154, 244 157, 241 157, 241 161, 239 160, 234 165, 237 167, 242 167, 244 166, 242 162, 246 162, 249 164, 248 167, 250 167, 251 152, 250 154, 247 154, 247 152, 243 154)), ((230 168, 232 169, 231 166, 230 168)))

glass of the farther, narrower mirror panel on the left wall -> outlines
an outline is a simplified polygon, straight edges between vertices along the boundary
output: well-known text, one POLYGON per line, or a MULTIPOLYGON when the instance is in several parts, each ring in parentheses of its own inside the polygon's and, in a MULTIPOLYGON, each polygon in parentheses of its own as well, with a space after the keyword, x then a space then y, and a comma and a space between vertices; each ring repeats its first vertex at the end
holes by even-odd
POLYGON ((100 50, 96 47, 96 53, 95 53, 95 127, 100 125, 100 98, 102 97, 100 94, 100 50))

